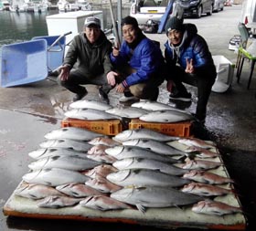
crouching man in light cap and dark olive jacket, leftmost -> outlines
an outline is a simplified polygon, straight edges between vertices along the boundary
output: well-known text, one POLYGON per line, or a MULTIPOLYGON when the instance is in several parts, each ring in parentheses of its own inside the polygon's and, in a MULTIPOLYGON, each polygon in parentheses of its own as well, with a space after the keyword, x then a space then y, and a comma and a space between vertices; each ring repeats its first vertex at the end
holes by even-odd
POLYGON ((112 43, 101 31, 100 19, 87 17, 84 31, 74 37, 70 44, 58 78, 61 86, 76 93, 73 101, 81 100, 88 93, 80 85, 93 84, 101 86, 100 98, 109 103, 108 93, 112 86, 106 76, 112 70, 111 51, 112 43))

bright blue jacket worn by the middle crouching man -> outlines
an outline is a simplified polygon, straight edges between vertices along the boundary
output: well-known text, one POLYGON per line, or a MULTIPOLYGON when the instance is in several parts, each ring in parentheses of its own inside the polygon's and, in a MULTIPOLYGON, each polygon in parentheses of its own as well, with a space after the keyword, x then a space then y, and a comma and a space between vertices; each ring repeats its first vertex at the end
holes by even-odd
POLYGON ((147 37, 144 37, 134 49, 123 41, 119 56, 113 57, 111 54, 111 60, 116 67, 129 64, 137 70, 123 80, 124 87, 145 82, 150 78, 163 78, 164 81, 162 67, 165 65, 165 58, 160 47, 147 37))

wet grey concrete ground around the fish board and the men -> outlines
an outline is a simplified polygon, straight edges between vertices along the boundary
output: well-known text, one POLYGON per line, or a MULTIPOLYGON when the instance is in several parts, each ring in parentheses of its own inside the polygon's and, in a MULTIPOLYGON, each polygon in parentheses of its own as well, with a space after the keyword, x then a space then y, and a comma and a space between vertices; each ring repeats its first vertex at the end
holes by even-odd
MULTIPOLYGON (((212 55, 221 55, 232 63, 237 54, 229 50, 229 39, 238 35, 240 5, 225 7, 223 12, 200 19, 187 18, 185 22, 197 25, 198 33, 206 38, 212 55)), ((163 45, 165 34, 147 34, 163 45)), ((236 69, 235 69, 236 73, 236 69)), ((224 163, 231 178, 236 182, 236 190, 248 218, 247 230, 256 226, 256 152, 255 152, 255 117, 256 117, 256 80, 255 73, 251 89, 246 89, 249 76, 249 63, 245 62, 240 84, 234 75, 231 88, 225 93, 212 92, 208 102, 206 126, 196 124, 194 133, 198 138, 211 139, 218 143, 224 163)), ((193 94, 190 105, 179 104, 177 107, 194 112, 197 91, 188 87, 193 94)), ((99 100, 98 89, 88 88, 88 99, 99 100)), ((54 77, 26 86, 0 89, 0 205, 20 183, 27 173, 27 164, 31 159, 28 152, 36 150, 44 141, 48 131, 58 129, 64 118, 63 112, 69 109, 73 95, 60 88, 54 77)), ((120 95, 114 90, 110 93, 111 104, 117 105, 120 95)), ((158 101, 169 103, 165 83, 161 86, 158 101)), ((0 230, 99 230, 105 227, 101 223, 84 223, 69 221, 50 221, 6 217, 0 213, 0 230), (86 226, 86 228, 85 228, 86 226)), ((140 226, 109 224, 112 230, 132 228, 141 230, 140 226)), ((145 227, 145 230, 161 230, 145 227)))

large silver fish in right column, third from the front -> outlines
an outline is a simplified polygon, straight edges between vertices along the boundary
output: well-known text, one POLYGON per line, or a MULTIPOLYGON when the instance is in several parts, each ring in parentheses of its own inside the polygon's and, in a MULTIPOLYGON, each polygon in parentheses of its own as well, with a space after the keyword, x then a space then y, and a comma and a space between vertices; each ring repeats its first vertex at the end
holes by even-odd
POLYGON ((187 173, 187 170, 180 169, 170 163, 164 163, 146 158, 125 158, 123 160, 116 161, 112 165, 119 169, 151 169, 158 170, 161 173, 167 173, 171 175, 182 175, 187 173))

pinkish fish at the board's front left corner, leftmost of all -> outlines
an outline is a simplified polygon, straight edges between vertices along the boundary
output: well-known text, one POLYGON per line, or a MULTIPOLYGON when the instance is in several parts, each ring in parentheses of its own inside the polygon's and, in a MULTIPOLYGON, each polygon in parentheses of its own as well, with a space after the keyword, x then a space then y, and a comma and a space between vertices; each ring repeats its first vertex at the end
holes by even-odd
POLYGON ((42 199, 48 195, 63 195, 55 188, 43 184, 22 184, 14 193, 33 200, 42 199))

